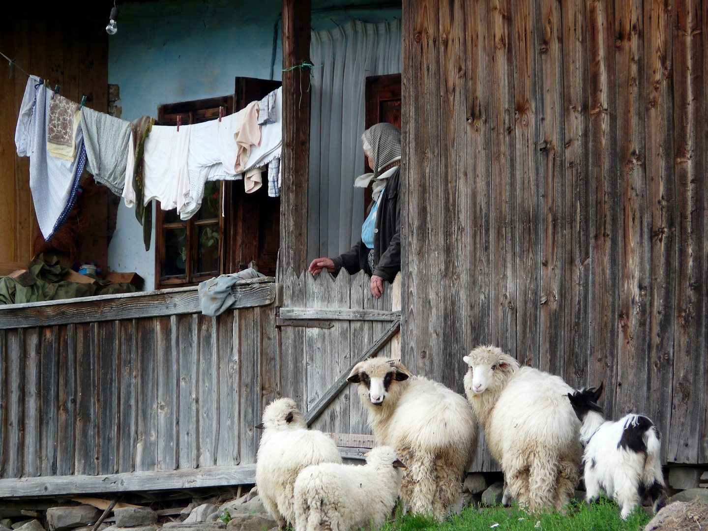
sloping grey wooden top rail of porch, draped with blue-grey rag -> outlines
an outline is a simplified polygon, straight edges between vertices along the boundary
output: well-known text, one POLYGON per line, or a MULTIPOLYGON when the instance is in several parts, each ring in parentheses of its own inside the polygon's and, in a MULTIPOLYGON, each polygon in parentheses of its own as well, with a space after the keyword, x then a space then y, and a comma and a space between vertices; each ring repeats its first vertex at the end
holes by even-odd
MULTIPOLYGON (((236 302, 229 309, 266 306, 275 301, 275 282, 239 280, 232 288, 236 302)), ((122 293, 81 299, 27 302, 0 307, 0 330, 54 324, 76 324, 163 315, 199 314, 197 287, 156 292, 122 293)))

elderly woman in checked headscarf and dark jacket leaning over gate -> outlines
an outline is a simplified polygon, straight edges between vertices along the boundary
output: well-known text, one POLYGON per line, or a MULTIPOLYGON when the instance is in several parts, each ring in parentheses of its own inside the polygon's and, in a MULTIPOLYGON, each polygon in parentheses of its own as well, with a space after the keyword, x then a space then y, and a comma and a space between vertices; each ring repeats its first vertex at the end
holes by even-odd
POLYGON ((392 282, 401 270, 401 206, 398 202, 401 165, 401 130, 389 123, 372 125, 362 135, 364 152, 374 173, 358 177, 355 186, 372 186, 372 202, 361 227, 361 239, 336 258, 315 258, 309 272, 319 275, 327 268, 338 273, 345 268, 350 275, 364 270, 371 275, 371 292, 381 297, 384 280, 392 282))

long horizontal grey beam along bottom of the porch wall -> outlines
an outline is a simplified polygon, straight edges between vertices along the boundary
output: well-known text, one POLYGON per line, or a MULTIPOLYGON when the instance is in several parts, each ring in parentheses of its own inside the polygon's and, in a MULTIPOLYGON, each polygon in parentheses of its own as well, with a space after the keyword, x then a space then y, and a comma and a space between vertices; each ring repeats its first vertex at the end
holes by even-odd
POLYGON ((104 476, 44 476, 0 479, 0 498, 64 496, 131 491, 166 491, 249 484, 256 481, 256 465, 204 467, 169 472, 125 472, 104 476))

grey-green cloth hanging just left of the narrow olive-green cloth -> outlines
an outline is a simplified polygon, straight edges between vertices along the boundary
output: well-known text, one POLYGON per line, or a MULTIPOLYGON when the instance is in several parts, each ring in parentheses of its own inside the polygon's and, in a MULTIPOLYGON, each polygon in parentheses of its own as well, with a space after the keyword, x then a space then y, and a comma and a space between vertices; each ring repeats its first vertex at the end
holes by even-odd
POLYGON ((86 147, 86 170, 97 183, 108 186, 115 195, 122 195, 130 152, 130 122, 84 107, 81 129, 86 147))

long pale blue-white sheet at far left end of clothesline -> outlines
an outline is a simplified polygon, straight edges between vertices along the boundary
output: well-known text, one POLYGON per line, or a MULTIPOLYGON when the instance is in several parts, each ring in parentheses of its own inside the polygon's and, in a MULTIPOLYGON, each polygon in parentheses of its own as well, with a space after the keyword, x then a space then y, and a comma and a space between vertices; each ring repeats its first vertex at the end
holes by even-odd
POLYGON ((47 241, 71 212, 86 163, 80 124, 75 128, 72 125, 76 151, 73 160, 50 156, 47 152, 52 94, 37 77, 30 76, 15 130, 17 154, 30 157, 30 190, 40 231, 47 241))

